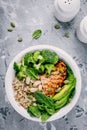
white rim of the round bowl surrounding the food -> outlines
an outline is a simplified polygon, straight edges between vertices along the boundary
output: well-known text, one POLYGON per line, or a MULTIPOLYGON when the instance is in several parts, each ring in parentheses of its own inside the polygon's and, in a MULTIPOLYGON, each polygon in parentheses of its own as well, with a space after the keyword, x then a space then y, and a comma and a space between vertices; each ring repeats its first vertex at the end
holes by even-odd
POLYGON ((51 116, 48 121, 53 121, 53 120, 59 119, 59 118, 63 117, 64 115, 66 115, 75 106, 75 104, 80 96, 80 92, 81 92, 81 75, 80 75, 79 68, 76 65, 75 61, 71 58, 71 56, 69 56, 69 54, 67 54, 64 50, 59 49, 54 46, 50 46, 50 45, 37 45, 37 46, 29 47, 29 48, 25 49, 24 51, 20 52, 17 56, 15 56, 15 58, 12 60, 12 62, 10 63, 10 65, 8 67, 6 77, 5 77, 6 94, 7 94, 7 97, 9 99, 11 105, 13 106, 13 108, 20 115, 22 115, 23 117, 25 117, 29 120, 38 121, 38 122, 41 122, 41 120, 38 118, 31 117, 27 113, 27 110, 25 110, 22 106, 20 106, 18 104, 18 102, 15 101, 14 91, 12 88, 12 81, 15 76, 15 72, 13 69, 14 61, 16 61, 16 62, 20 61, 20 59, 29 51, 42 50, 42 49, 50 49, 50 50, 55 51, 61 59, 63 59, 66 63, 68 63, 70 65, 70 67, 72 68, 74 75, 77 79, 76 92, 75 92, 75 95, 74 95, 72 101, 68 105, 66 105, 65 107, 60 109, 53 116, 51 116))

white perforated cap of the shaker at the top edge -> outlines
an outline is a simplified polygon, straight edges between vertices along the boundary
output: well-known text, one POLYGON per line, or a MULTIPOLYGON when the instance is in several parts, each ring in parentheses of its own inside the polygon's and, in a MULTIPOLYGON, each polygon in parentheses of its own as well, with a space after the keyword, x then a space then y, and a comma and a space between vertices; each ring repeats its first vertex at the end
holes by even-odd
MULTIPOLYGON (((57 0, 59 9, 64 13, 75 13, 80 6, 79 0, 57 0)), ((72 15, 72 14, 71 14, 72 15)))

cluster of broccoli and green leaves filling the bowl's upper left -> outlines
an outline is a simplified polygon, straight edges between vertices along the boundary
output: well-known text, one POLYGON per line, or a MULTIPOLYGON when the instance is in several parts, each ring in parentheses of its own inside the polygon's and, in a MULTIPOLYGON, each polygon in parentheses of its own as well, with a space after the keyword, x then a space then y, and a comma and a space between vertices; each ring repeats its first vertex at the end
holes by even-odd
POLYGON ((28 52, 22 58, 21 62, 14 62, 14 70, 19 80, 29 76, 31 79, 37 79, 39 74, 50 74, 55 70, 55 64, 58 62, 58 55, 50 50, 28 52))

